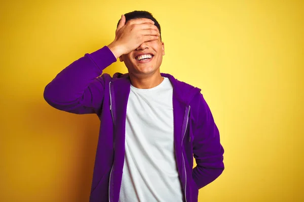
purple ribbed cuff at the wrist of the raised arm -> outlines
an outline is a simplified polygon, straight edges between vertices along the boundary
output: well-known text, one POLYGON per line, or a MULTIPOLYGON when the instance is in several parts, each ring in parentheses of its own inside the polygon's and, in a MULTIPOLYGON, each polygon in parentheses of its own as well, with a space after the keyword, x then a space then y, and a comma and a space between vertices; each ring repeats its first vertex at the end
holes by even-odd
POLYGON ((101 71, 117 61, 110 48, 107 46, 103 46, 102 48, 88 55, 101 71))

